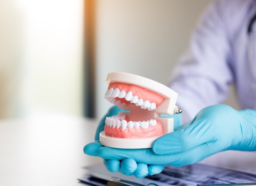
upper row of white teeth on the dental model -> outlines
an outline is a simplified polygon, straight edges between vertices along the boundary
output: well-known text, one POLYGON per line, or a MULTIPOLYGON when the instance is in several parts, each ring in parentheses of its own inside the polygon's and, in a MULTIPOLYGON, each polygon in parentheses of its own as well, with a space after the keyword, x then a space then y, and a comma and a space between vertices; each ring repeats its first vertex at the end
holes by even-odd
POLYGON ((155 110, 156 108, 154 102, 150 103, 149 100, 143 101, 143 99, 139 99, 138 96, 136 95, 132 96, 132 91, 126 93, 125 90, 120 91, 119 88, 111 88, 105 94, 105 99, 109 100, 110 102, 119 107, 123 107, 125 103, 121 102, 120 100, 116 100, 115 97, 124 98, 126 101, 130 101, 131 103, 134 103, 136 106, 140 106, 141 109, 148 109, 149 111, 151 111, 155 110))

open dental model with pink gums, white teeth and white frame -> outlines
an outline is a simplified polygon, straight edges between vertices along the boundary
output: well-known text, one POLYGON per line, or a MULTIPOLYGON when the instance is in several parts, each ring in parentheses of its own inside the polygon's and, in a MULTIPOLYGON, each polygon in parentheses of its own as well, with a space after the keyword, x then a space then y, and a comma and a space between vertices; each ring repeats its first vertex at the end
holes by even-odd
POLYGON ((181 113, 178 93, 151 79, 123 72, 111 72, 106 79, 105 99, 120 109, 117 116, 106 117, 100 133, 102 145, 114 148, 151 148, 159 136, 173 132, 174 119, 160 114, 181 113))

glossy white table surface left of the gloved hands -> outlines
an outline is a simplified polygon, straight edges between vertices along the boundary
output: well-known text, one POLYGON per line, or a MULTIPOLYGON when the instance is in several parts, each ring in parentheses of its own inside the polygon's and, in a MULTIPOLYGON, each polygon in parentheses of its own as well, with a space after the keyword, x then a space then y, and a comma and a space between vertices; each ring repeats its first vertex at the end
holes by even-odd
POLYGON ((0 186, 75 186, 82 167, 101 162, 83 153, 96 120, 34 116, 0 121, 0 186))

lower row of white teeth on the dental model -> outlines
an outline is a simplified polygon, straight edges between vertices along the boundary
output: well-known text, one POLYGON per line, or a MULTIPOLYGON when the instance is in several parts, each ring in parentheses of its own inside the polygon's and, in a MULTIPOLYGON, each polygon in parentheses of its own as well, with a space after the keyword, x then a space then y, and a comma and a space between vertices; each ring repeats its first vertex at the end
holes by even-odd
POLYGON ((112 117, 106 117, 105 120, 105 124, 108 127, 112 127, 112 128, 122 128, 123 130, 125 130, 127 127, 132 129, 134 128, 143 128, 143 129, 147 129, 149 126, 155 126, 156 125, 156 120, 149 120, 149 121, 126 121, 124 120, 124 117, 116 117, 116 116, 112 116, 112 117))

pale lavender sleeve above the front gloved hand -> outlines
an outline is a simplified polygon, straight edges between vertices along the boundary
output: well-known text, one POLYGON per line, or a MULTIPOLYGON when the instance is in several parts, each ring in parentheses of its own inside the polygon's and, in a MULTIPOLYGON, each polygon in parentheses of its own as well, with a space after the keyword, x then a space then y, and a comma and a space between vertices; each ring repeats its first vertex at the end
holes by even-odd
POLYGON ((196 27, 189 50, 176 66, 170 82, 170 88, 178 93, 177 106, 183 110, 183 122, 228 96, 233 81, 228 35, 221 5, 216 1, 196 27))

